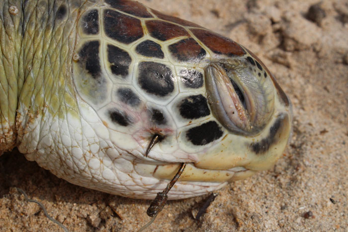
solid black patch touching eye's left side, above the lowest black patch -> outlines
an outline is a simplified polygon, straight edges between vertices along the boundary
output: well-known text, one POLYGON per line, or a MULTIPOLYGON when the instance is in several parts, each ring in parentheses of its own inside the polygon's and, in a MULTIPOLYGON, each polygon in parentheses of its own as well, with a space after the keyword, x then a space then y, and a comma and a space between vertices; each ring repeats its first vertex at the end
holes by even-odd
POLYGON ((207 99, 202 94, 182 99, 178 108, 181 117, 187 119, 202 118, 210 114, 207 99))

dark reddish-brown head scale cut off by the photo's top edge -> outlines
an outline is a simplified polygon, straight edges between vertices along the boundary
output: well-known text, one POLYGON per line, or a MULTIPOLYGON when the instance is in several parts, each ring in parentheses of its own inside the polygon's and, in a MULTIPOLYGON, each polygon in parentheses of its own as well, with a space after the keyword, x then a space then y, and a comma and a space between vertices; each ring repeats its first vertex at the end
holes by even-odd
POLYGON ((105 2, 115 9, 132 14, 134 16, 138 16, 138 17, 142 17, 142 18, 151 18, 152 17, 152 14, 150 14, 147 11, 146 7, 137 1, 105 0, 105 2))

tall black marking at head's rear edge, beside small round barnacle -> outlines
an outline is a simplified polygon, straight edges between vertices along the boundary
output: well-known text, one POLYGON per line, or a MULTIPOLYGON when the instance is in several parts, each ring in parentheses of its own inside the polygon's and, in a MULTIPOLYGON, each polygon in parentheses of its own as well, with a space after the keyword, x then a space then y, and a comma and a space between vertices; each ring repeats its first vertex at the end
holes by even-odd
POLYGON ((99 41, 90 41, 87 42, 79 52, 79 63, 81 63, 82 66, 85 66, 84 68, 93 78, 99 77, 101 73, 99 62, 99 46, 99 41))

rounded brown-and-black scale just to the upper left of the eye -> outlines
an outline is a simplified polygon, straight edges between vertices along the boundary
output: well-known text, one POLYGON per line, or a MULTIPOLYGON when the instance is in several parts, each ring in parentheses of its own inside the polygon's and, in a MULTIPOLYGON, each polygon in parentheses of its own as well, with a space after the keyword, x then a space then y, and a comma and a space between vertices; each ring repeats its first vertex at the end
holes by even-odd
POLYGON ((206 55, 206 51, 193 39, 183 39, 169 46, 172 56, 178 60, 189 63, 198 63, 206 55))

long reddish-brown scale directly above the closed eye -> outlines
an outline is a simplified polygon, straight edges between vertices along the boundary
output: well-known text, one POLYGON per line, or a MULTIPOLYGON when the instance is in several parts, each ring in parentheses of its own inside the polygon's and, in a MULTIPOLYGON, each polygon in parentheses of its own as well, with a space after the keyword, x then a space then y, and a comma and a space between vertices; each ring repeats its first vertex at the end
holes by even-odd
POLYGON ((244 49, 229 38, 203 29, 191 29, 191 31, 214 53, 223 54, 229 57, 245 55, 244 49))

